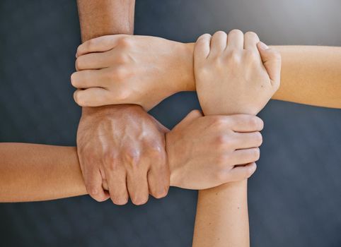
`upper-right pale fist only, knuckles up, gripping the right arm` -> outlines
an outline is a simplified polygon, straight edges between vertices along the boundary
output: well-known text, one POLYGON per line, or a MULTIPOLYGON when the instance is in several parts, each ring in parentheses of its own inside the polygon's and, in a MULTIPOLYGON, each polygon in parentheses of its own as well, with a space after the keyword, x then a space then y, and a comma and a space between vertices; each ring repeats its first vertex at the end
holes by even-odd
POLYGON ((204 114, 258 114, 279 88, 281 56, 254 32, 202 35, 194 60, 204 114))

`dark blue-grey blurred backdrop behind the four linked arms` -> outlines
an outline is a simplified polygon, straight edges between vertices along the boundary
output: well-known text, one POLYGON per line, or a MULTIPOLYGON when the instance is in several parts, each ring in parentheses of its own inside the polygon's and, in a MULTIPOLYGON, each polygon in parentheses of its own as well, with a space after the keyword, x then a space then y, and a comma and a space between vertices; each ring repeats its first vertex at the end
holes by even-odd
MULTIPOLYGON (((135 32, 192 42, 254 30, 269 44, 341 45, 340 0, 137 0, 135 32)), ((69 76, 80 43, 76 1, 0 1, 0 141, 75 145, 69 76)), ((340 64, 341 68, 341 64, 340 64)), ((172 127, 198 107, 178 94, 152 114, 172 127)), ((249 183, 253 246, 341 246, 341 112, 270 102, 249 183)), ((0 205, 0 246, 190 246, 197 193, 115 207, 88 196, 0 205)))

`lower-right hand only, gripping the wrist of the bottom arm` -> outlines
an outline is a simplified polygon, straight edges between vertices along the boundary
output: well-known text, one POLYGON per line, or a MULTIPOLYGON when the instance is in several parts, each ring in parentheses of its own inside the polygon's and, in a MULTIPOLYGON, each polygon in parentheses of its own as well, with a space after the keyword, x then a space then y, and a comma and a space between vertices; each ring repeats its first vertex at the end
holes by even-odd
POLYGON ((190 112, 166 134, 171 186, 202 190, 248 179, 260 157, 262 127, 257 116, 190 112))

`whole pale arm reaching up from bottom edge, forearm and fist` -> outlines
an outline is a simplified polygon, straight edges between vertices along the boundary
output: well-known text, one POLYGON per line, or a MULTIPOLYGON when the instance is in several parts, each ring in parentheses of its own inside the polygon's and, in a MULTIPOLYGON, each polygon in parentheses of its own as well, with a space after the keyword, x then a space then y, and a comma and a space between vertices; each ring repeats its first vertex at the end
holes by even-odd
MULTIPOLYGON (((194 57, 195 77, 203 90, 198 94, 202 104, 207 103, 202 105, 206 114, 258 114, 279 86, 280 57, 259 43, 254 33, 243 35, 233 30, 229 35, 216 32, 212 38, 203 35, 197 41, 194 57), (207 87, 215 90, 215 95, 204 91, 207 87), (225 100, 233 92, 241 104, 225 100), (210 104, 211 100, 216 104, 210 104)), ((246 180, 200 191, 193 246, 250 246, 246 180)))

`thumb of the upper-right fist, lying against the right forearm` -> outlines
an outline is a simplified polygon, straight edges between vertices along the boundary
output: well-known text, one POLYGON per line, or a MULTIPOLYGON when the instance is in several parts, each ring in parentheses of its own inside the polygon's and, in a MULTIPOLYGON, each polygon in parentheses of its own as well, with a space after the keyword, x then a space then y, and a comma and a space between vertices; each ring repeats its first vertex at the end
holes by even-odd
POLYGON ((257 44, 258 51, 260 52, 260 57, 262 58, 262 63, 267 70, 267 74, 270 77, 272 85, 279 86, 281 80, 281 67, 282 67, 282 57, 279 52, 271 49, 263 42, 257 44))

